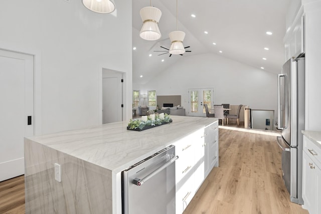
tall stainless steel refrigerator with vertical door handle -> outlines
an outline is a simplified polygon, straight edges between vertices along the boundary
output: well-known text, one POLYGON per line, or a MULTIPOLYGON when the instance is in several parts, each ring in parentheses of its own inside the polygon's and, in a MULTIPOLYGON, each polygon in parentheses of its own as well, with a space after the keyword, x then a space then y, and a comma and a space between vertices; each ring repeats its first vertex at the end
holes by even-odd
POLYGON ((302 149, 304 130, 304 56, 288 60, 278 75, 277 142, 282 149, 282 172, 290 200, 303 204, 302 149))

